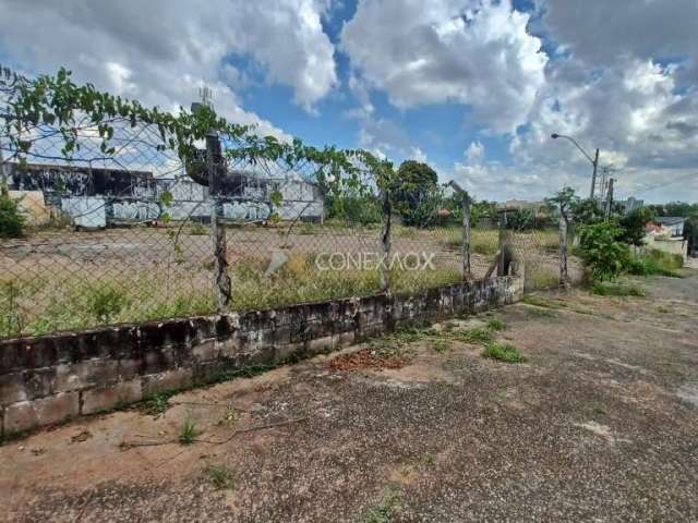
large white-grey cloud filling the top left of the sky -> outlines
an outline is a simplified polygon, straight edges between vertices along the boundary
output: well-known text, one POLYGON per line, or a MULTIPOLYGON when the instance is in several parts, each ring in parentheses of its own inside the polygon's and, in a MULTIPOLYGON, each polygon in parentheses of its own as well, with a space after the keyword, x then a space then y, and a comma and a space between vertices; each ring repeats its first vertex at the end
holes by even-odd
POLYGON ((337 85, 321 24, 327 9, 312 0, 0 0, 0 56, 29 74, 67 66, 79 81, 168 110, 207 85, 226 118, 284 135, 242 108, 246 77, 229 59, 250 60, 312 110, 337 85))

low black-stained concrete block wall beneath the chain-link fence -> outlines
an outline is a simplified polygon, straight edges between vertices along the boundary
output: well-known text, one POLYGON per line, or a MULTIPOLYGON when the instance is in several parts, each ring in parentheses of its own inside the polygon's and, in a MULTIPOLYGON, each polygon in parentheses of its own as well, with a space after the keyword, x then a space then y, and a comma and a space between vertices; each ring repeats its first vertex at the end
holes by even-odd
POLYGON ((362 341, 395 327, 517 301, 519 277, 416 296, 365 297, 240 314, 176 318, 0 341, 3 435, 362 341))

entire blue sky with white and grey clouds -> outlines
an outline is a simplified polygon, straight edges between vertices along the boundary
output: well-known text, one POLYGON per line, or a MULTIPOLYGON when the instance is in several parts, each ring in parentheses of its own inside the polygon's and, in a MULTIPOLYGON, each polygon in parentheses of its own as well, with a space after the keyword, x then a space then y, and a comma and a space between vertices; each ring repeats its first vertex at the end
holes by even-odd
POLYGON ((0 63, 428 161, 477 197, 698 200, 697 0, 0 0, 0 63))

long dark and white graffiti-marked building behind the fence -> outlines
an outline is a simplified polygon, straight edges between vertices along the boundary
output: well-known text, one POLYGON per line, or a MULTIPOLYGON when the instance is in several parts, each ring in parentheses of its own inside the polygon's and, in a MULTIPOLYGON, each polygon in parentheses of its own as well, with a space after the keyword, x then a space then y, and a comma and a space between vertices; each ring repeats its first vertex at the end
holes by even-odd
MULTIPOLYGON (((173 220, 210 217, 208 187, 185 174, 158 178, 149 171, 9 163, 8 184, 13 191, 43 193, 47 207, 60 209, 85 228, 156 220, 164 211, 173 220), (165 193, 171 195, 167 209, 160 202, 165 193)), ((230 171, 218 190, 224 219, 257 221, 276 212, 281 220, 322 221, 324 216, 320 187, 292 172, 274 179, 254 171, 230 171), (278 206, 273 204, 277 196, 278 206)))

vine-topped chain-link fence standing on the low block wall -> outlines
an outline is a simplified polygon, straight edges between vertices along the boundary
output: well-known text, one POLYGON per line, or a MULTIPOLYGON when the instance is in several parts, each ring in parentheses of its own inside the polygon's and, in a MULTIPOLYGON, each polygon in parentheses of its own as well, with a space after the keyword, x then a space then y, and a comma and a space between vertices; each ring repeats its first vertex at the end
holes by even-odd
POLYGON ((240 155, 215 133, 182 161, 161 129, 125 118, 109 120, 109 148, 105 122, 80 121, 65 150, 57 126, 3 114, 0 219, 19 207, 25 224, 0 244, 0 337, 413 293, 514 258, 527 288, 559 281, 553 223, 471 215, 457 185, 397 197, 354 158, 359 180, 336 191, 340 173, 312 157, 240 155))

